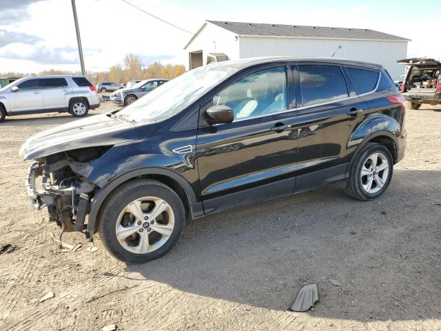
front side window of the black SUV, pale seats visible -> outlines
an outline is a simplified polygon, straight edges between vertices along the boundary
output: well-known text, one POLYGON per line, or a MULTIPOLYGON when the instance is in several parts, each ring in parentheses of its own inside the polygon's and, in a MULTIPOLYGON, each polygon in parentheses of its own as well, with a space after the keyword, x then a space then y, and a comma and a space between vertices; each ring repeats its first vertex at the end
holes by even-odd
POLYGON ((262 116, 287 109, 285 67, 253 72, 218 92, 213 105, 225 105, 234 111, 234 120, 262 116))

